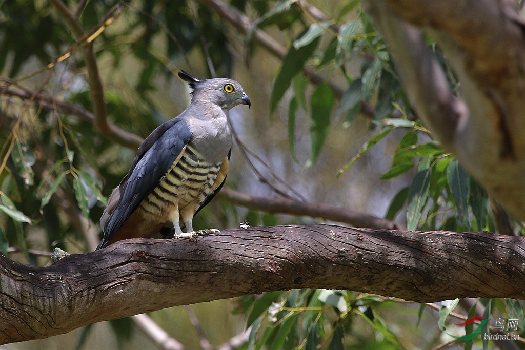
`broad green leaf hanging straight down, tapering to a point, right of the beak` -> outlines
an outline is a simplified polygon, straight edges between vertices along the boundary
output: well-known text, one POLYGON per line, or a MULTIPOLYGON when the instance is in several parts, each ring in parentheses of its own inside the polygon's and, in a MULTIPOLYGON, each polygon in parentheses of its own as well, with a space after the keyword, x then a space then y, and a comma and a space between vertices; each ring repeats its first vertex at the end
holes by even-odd
MULTIPOLYGON (((312 92, 310 99, 312 114, 310 116, 311 153, 309 164, 317 160, 330 131, 330 112, 334 97, 327 83, 319 84, 312 92)), ((307 166, 308 166, 307 165, 307 166)))

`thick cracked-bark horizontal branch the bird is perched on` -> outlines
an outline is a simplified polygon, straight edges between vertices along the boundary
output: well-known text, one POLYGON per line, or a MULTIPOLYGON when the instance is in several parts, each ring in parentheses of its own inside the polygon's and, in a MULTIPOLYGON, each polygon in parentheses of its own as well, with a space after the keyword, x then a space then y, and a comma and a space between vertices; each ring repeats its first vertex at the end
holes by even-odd
POLYGON ((0 254, 0 344, 165 307, 295 288, 416 302, 525 299, 525 239, 329 225, 233 228, 196 243, 133 239, 50 267, 0 254))

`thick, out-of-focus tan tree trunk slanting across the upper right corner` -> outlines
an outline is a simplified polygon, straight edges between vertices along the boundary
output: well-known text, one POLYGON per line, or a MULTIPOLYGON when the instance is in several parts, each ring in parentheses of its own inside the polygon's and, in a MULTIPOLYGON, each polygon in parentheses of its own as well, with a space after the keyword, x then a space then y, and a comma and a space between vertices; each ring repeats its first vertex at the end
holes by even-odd
POLYGON ((409 97, 436 139, 509 212, 525 219, 525 24, 517 4, 368 0, 409 97), (451 95, 421 29, 460 81, 451 95))

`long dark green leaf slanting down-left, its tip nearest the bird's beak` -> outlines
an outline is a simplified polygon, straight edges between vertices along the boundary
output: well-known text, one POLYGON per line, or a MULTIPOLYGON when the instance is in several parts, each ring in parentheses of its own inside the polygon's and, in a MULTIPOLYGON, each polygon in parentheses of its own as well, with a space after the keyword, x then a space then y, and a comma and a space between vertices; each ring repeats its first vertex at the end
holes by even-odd
MULTIPOLYGON (((300 37, 301 36, 299 36, 299 38, 300 37)), ((277 104, 290 86, 292 78, 302 71, 304 63, 312 56, 313 51, 319 44, 319 40, 320 37, 313 39, 310 44, 302 46, 299 49, 293 46, 290 47, 288 54, 282 61, 279 75, 274 83, 274 89, 271 91, 270 112, 275 111, 277 104)))

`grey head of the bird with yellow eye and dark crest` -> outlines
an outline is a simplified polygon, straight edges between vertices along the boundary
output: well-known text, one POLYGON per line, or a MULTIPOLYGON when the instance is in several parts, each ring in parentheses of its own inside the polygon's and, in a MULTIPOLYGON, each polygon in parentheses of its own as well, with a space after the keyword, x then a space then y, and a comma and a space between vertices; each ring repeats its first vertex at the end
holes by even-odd
POLYGON ((251 107, 250 98, 235 80, 226 78, 197 80, 185 71, 179 72, 178 76, 192 88, 192 103, 209 101, 227 110, 238 104, 247 104, 248 108, 251 107))

